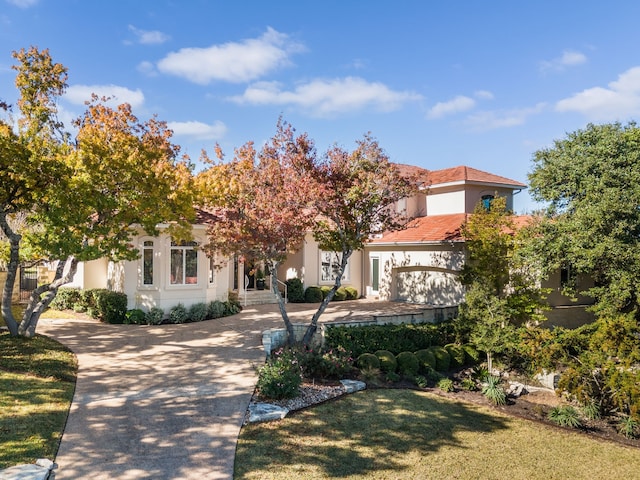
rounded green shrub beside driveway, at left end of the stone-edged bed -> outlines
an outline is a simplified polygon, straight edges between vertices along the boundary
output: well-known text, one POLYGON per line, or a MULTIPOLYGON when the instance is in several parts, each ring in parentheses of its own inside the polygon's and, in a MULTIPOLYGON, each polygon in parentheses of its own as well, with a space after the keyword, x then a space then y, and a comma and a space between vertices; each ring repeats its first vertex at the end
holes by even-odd
POLYGON ((258 370, 258 392, 265 398, 281 400, 298 395, 302 384, 300 364, 288 356, 272 357, 258 370))

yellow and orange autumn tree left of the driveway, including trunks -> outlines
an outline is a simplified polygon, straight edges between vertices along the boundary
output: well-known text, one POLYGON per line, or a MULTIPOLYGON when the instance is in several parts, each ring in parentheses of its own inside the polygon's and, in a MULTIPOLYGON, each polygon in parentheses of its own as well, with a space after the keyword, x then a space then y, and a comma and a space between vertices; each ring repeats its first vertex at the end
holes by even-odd
POLYGON ((129 105, 111 108, 106 99, 88 104, 72 140, 56 116, 66 68, 35 47, 14 57, 18 130, 0 125, 0 141, 8 145, 0 153, 0 228, 10 244, 2 314, 11 334, 33 336, 40 314, 73 278, 78 262, 136 258, 133 234, 155 234, 161 222, 174 222, 176 236, 188 235, 192 167, 178 158, 164 122, 141 122, 129 105), (26 216, 28 231, 14 229, 16 215, 26 216), (57 268, 53 280, 32 293, 18 321, 11 298, 26 238, 34 256, 57 268))

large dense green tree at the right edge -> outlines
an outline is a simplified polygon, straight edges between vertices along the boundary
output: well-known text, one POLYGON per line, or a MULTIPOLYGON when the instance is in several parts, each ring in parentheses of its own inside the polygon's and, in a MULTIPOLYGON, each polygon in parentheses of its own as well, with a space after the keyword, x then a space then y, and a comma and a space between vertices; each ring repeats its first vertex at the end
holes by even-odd
POLYGON ((600 316, 639 309, 640 129, 587 125, 535 152, 533 197, 545 202, 538 254, 547 272, 590 275, 600 316))

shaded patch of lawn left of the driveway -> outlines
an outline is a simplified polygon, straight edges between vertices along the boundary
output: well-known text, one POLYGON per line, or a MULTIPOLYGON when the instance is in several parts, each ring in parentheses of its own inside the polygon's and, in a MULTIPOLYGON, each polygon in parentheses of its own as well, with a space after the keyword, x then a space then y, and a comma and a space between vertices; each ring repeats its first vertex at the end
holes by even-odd
POLYGON ((76 373, 58 342, 0 333, 0 468, 55 458, 76 373))

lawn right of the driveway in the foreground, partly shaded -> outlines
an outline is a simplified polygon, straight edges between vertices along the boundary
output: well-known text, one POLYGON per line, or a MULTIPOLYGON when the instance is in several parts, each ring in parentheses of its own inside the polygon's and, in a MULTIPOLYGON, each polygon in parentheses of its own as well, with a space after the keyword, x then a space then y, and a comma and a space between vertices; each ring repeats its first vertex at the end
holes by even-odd
POLYGON ((640 452, 413 390, 244 427, 240 479, 636 478, 640 452))

